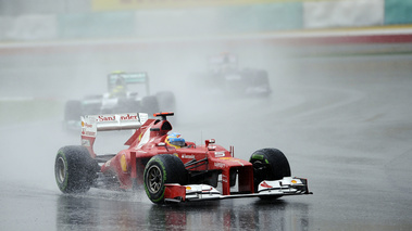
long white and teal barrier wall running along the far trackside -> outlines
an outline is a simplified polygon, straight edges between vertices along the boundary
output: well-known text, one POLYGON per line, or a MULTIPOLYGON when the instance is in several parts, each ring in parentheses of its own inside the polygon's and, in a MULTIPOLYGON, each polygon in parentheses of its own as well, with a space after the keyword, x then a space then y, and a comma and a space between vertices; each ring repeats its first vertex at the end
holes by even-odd
MULTIPOLYGON (((18 0, 18 2, 22 1, 18 0)), ((96 1, 107 4, 132 2, 96 1)), ((179 2, 192 1, 179 0, 179 2)), ((216 2, 216 0, 202 1, 216 2)), ((78 4, 80 0, 74 2, 78 4)), ((157 2, 162 4, 162 1, 157 2)), ((171 3, 173 0, 163 3, 165 2, 171 3)), ((251 3, 252 0, 224 0, 220 1, 220 4, 223 2, 237 3, 215 8, 159 8, 15 15, 3 15, 0 10, 0 15, 2 15, 0 16, 0 41, 113 37, 162 38, 412 25, 412 0, 254 0, 253 3, 251 3), (245 2, 250 4, 245 4, 245 2)), ((70 9, 68 5, 67 9, 70 9)))

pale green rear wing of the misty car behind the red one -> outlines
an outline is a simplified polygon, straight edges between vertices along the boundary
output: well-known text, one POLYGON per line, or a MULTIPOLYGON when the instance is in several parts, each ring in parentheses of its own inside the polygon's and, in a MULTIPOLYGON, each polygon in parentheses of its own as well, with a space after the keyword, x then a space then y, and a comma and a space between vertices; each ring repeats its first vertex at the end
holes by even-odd
POLYGON ((108 76, 108 87, 111 91, 118 81, 122 81, 123 85, 146 85, 146 92, 149 92, 149 76, 145 72, 139 73, 112 73, 108 76))

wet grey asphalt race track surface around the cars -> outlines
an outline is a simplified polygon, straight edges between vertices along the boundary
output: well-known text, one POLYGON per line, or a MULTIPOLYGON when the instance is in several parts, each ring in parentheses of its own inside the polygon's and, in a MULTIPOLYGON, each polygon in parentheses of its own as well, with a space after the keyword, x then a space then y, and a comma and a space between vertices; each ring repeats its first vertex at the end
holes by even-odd
MULTIPOLYGON (((277 147, 289 158, 292 175, 309 179, 313 195, 174 206, 153 205, 143 192, 64 195, 54 182, 54 155, 60 146, 77 144, 77 133, 63 131, 60 117, 2 121, 1 229, 410 230, 412 55, 285 59, 273 50, 260 51, 235 49, 245 65, 269 69, 270 99, 226 99, 193 89, 187 79, 204 67, 204 59, 193 61, 195 52, 177 49, 164 55, 159 50, 2 54, 1 97, 64 101, 85 90, 104 90, 105 82, 97 82, 111 70, 145 69, 153 77, 152 89, 161 79, 168 85, 159 88, 175 89, 174 128, 187 140, 215 138, 226 147, 235 145, 235 155, 246 159, 254 150, 277 147), (182 54, 180 62, 173 61, 176 54, 182 54)), ((104 137, 116 146, 97 143, 97 151, 122 147, 120 136, 104 137)))

